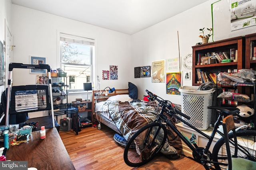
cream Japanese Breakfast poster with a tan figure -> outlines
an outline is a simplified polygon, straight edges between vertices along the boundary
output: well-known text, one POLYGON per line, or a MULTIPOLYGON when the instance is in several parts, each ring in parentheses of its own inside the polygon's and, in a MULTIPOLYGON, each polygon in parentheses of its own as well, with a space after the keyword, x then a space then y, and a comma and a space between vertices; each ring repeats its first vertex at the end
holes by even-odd
POLYGON ((152 62, 152 83, 164 83, 164 60, 152 62))

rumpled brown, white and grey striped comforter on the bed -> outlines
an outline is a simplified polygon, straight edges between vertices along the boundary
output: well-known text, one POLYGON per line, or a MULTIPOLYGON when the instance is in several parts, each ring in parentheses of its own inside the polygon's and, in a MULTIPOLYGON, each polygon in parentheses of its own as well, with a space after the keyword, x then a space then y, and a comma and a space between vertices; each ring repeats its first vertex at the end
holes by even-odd
MULTIPOLYGON (((113 101, 108 105, 108 111, 121 135, 126 141, 129 141, 138 129, 156 119, 155 106, 157 106, 156 103, 152 102, 113 101)), ((181 150, 180 138, 168 129, 168 140, 161 152, 164 154, 180 154, 181 150)))

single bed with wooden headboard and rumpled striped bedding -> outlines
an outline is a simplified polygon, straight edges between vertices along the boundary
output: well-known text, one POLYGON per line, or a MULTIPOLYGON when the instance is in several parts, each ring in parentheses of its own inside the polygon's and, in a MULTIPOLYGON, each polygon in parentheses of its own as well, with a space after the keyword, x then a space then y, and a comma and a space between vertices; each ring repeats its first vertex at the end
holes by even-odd
MULTIPOLYGON (((155 109, 157 104, 155 102, 144 102, 140 100, 133 100, 129 97, 128 89, 117 89, 114 93, 107 92, 98 93, 93 91, 92 108, 94 121, 103 123, 110 127, 126 141, 140 127, 151 123, 156 118, 155 109)), ((181 152, 181 141, 176 134, 168 135, 168 147, 166 147, 164 154, 177 154, 181 152)))

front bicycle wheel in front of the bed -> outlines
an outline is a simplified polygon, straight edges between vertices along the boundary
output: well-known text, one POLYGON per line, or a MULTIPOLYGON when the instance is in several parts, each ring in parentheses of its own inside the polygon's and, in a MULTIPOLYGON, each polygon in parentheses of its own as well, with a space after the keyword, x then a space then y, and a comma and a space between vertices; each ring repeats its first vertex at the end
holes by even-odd
POLYGON ((126 145, 124 162, 132 167, 148 163, 162 149, 166 138, 167 130, 164 125, 160 123, 145 125, 134 133, 126 145), (134 144, 135 147, 132 147, 134 144))

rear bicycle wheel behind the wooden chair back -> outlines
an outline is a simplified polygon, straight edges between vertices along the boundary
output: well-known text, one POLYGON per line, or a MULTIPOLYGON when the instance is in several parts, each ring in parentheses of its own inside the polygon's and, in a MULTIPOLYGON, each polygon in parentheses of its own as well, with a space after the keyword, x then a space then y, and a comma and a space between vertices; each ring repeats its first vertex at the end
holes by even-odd
MULTIPOLYGON (((245 158, 256 162, 256 131, 242 130, 236 132, 238 142, 238 154, 240 158, 245 158)), ((228 135, 229 141, 233 140, 233 133, 228 135)), ((234 155, 235 146, 229 142, 231 155, 234 155)), ((219 162, 214 164, 216 170, 226 170, 228 166, 228 156, 226 152, 226 144, 222 137, 215 144, 212 151, 212 160, 219 162)))

